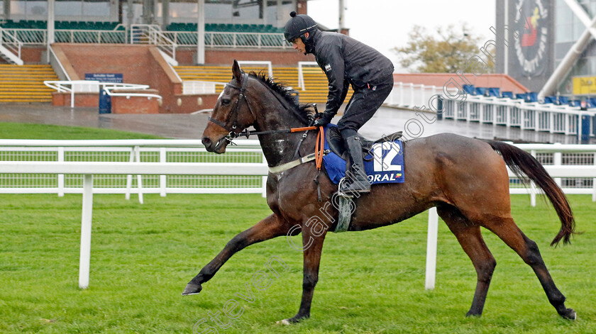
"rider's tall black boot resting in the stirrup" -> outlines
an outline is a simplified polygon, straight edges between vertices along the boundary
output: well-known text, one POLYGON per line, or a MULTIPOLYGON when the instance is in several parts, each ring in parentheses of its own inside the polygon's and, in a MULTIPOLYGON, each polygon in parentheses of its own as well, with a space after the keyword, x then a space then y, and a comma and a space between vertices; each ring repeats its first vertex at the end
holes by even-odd
POLYGON ((362 157, 362 142, 358 135, 350 135, 344 139, 348 154, 350 155, 350 167, 346 170, 347 182, 342 183, 340 191, 344 193, 366 193, 370 192, 370 182, 364 170, 362 157))

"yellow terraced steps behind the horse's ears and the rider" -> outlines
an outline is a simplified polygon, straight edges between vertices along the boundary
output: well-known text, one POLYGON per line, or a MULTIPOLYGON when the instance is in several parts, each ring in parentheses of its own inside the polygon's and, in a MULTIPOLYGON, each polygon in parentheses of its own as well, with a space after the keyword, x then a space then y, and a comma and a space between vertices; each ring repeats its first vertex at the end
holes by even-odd
MULTIPOLYGON (((182 81, 197 80, 197 81, 213 81, 213 82, 229 82, 231 78, 231 67, 227 66, 176 66, 174 67, 182 81)), ((265 71, 266 67, 242 67, 245 72, 265 71)), ((303 67, 304 86, 305 90, 298 88, 298 67, 273 67, 273 77, 275 81, 282 82, 292 89, 298 91, 300 96, 300 103, 316 103, 319 106, 324 106, 327 101, 327 94, 329 93, 329 84, 327 77, 319 69, 319 67, 303 67)), ((216 86, 216 93, 219 94, 223 86, 216 86)), ((346 102, 352 96, 352 89, 348 91, 346 102)), ((323 108, 324 109, 324 108, 323 108)), ((319 111, 321 108, 319 108, 319 111)))

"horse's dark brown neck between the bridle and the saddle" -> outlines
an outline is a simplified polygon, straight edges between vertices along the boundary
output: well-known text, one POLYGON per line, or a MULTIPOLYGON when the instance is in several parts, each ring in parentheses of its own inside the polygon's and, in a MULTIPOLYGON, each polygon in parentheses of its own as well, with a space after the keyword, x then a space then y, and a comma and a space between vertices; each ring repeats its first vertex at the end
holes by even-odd
MULTIPOLYGON (((267 94, 261 95, 267 96, 267 98, 260 101, 260 112, 258 112, 257 124, 255 124, 257 130, 284 130, 304 126, 298 116, 294 115, 293 111, 287 110, 286 106, 283 106, 271 94, 272 92, 267 91, 267 94)), ((263 148, 263 155, 265 155, 267 165, 275 167, 292 161, 300 138, 302 138, 302 132, 259 135, 260 145, 263 148)), ((304 140, 303 146, 309 147, 309 144, 311 144, 309 142, 314 143, 311 140, 311 135, 304 140)), ((302 147, 301 152, 304 151, 304 147, 302 147)))

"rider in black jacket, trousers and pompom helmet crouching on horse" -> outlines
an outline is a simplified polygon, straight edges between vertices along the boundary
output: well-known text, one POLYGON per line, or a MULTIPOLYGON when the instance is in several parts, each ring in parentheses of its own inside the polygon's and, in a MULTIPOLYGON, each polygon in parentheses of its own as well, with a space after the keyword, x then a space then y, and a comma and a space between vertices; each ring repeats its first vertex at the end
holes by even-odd
POLYGON ((285 39, 304 55, 312 53, 329 81, 325 112, 314 126, 325 126, 346 99, 351 84, 354 94, 337 126, 351 157, 354 179, 340 189, 347 193, 369 192, 364 172, 358 129, 381 106, 393 88, 393 64, 377 50, 341 33, 321 31, 307 15, 289 13, 285 39))

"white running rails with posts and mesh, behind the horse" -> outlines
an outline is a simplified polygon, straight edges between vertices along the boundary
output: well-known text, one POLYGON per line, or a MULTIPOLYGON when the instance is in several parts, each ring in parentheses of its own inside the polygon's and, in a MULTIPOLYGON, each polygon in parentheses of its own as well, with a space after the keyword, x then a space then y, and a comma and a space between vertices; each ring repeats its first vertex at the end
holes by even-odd
MULTIPOLYGON (((596 145, 517 145, 531 152, 565 194, 596 201, 596 145)), ((267 165, 257 140, 238 141, 226 155, 198 140, 0 140, 0 193, 82 193, 79 286, 89 286, 93 194, 263 193, 267 165), (127 161, 128 160, 128 161, 127 161), (133 175, 137 175, 133 190, 133 175), (95 175, 95 177, 94 177, 95 175), (95 178, 95 181, 94 181, 95 178)), ((509 173, 512 194, 531 194, 509 173)), ((438 216, 429 211, 426 289, 436 282, 438 216)))

